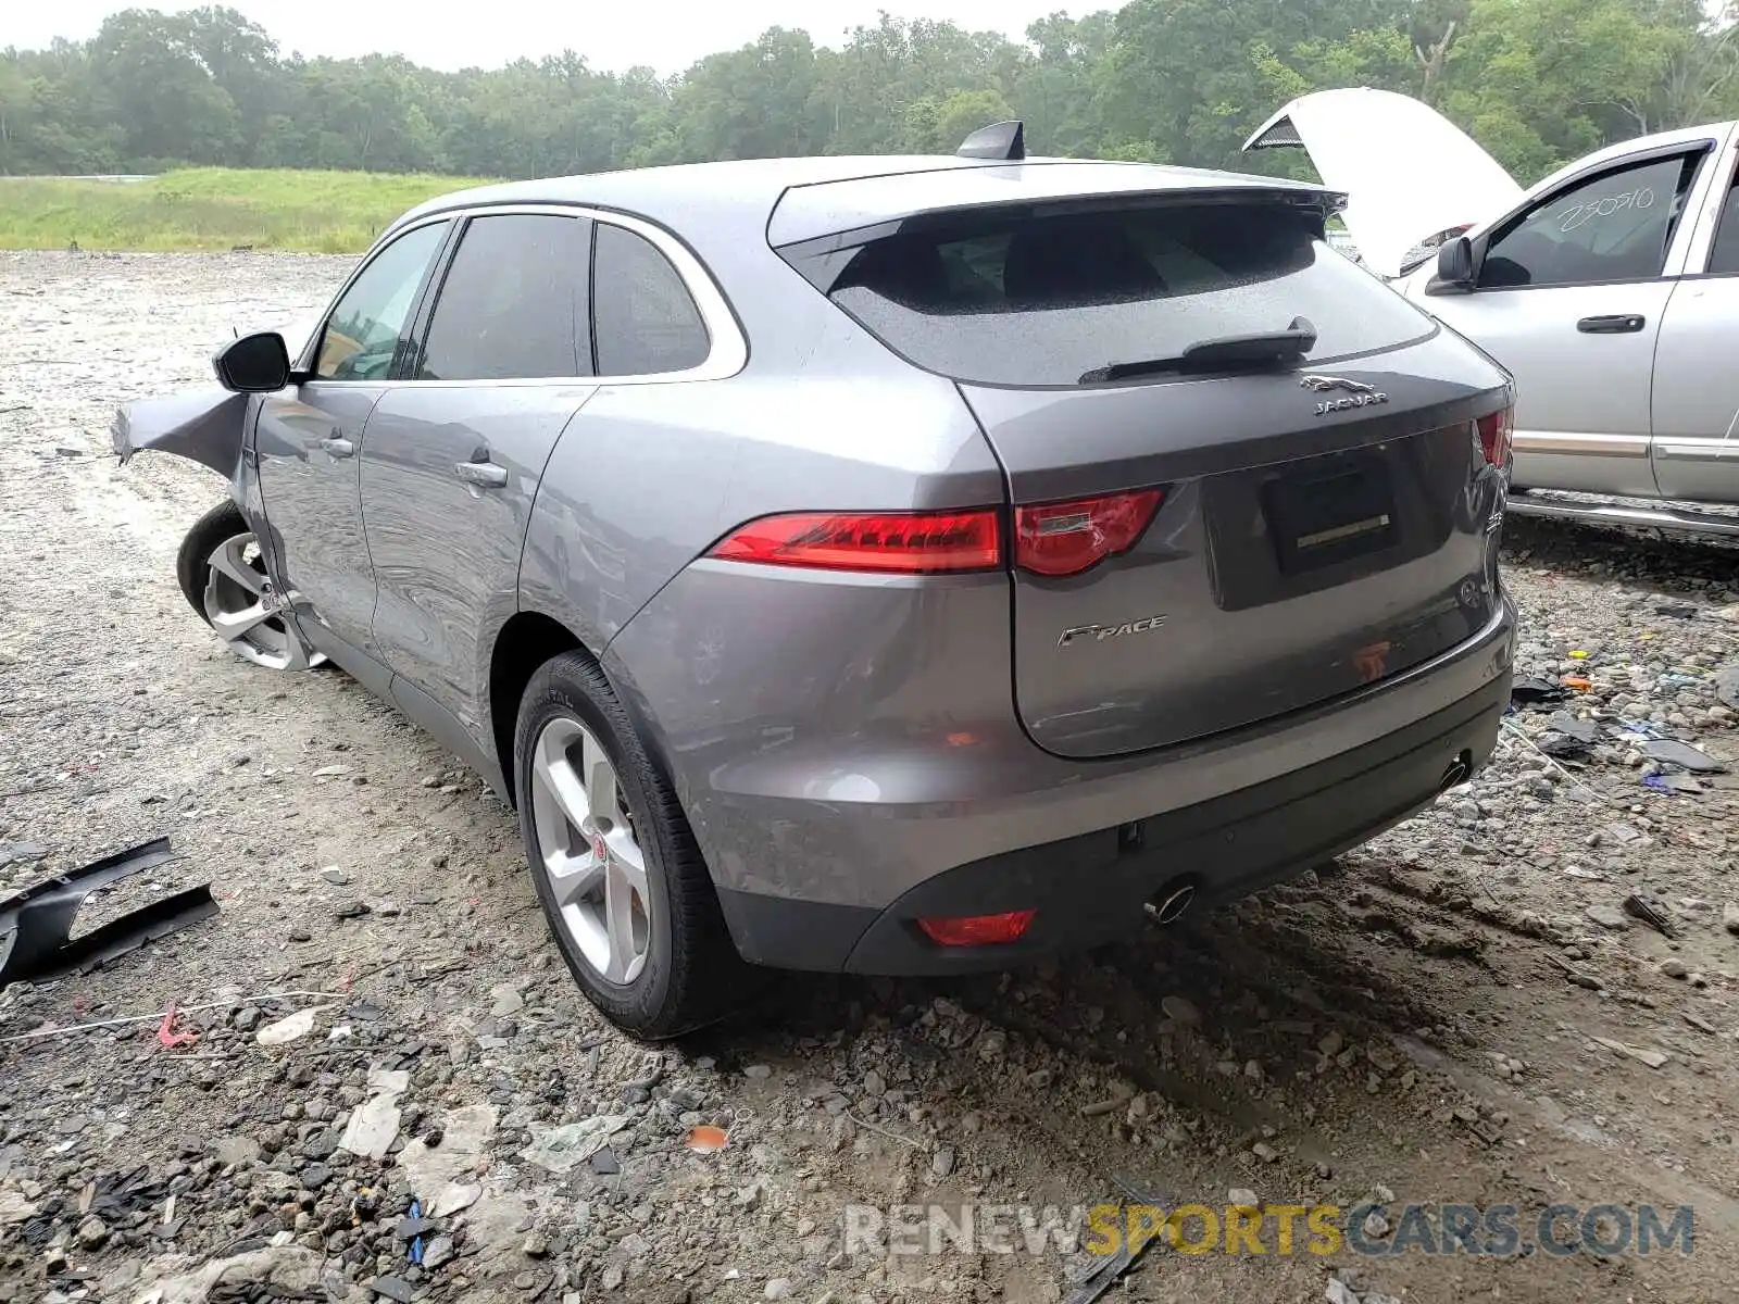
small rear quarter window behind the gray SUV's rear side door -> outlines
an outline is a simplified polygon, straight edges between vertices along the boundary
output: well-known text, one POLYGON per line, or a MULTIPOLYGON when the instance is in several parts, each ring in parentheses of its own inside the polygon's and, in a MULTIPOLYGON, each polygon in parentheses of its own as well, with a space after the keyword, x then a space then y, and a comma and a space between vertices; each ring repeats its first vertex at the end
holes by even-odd
POLYGON ((593 259, 598 376, 661 376, 706 362, 711 341, 701 309, 650 240, 598 223, 593 259))

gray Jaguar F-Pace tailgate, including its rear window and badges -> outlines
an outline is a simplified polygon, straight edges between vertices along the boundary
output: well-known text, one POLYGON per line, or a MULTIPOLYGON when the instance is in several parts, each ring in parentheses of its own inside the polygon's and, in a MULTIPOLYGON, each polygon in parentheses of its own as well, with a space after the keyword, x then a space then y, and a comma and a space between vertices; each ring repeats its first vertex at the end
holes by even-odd
POLYGON ((812 242, 805 275, 953 377, 1005 469, 1014 694, 1054 753, 1297 711, 1497 610, 1502 485, 1476 422, 1506 377, 1329 249, 1308 200, 1162 191, 812 242), (1303 362, 1179 362, 1299 318, 1303 362))

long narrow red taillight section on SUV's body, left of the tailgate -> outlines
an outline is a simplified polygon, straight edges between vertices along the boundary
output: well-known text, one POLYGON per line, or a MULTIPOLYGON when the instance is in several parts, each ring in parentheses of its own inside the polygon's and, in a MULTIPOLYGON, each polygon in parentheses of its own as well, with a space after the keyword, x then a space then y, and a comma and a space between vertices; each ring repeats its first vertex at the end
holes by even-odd
POLYGON ((713 546, 727 562, 934 575, 1002 565, 995 508, 930 513, 805 511, 750 522, 713 546))

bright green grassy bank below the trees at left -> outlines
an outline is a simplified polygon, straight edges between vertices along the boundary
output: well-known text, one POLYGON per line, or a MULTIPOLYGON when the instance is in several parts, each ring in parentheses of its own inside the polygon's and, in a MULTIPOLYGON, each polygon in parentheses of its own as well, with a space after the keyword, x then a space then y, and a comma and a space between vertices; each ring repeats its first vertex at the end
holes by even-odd
POLYGON ((0 177, 0 249, 356 254, 466 177, 195 167, 139 183, 0 177))

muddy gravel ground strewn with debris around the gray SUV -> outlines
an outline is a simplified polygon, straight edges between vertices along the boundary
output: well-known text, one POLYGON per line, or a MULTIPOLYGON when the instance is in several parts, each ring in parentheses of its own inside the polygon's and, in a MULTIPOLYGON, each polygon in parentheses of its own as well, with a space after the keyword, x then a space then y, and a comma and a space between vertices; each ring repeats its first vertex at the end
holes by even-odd
POLYGON ((223 906, 0 993, 0 1301, 1059 1301, 1092 1255, 890 1255, 842 1219, 1120 1179, 1381 1203, 1358 1231, 1412 1248, 1315 1254, 1301 1224, 1282 1254, 1269 1219, 1266 1254, 1163 1247, 1109 1299, 1732 1297, 1739 777, 1661 744, 1739 768, 1739 551, 1513 520, 1520 673, 1586 690, 1509 716, 1428 814, 1129 946, 777 977, 649 1050, 577 996, 475 775, 186 609, 174 551, 223 485, 106 456, 117 402, 205 383, 344 268, 0 256, 0 890, 167 833, 89 916, 207 880, 223 906), (1569 1254, 1433 1257, 1410 1201, 1515 1205, 1523 1241, 1549 1205, 1689 1205, 1694 1252, 1602 1254, 1607 1210, 1569 1254))

